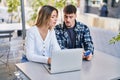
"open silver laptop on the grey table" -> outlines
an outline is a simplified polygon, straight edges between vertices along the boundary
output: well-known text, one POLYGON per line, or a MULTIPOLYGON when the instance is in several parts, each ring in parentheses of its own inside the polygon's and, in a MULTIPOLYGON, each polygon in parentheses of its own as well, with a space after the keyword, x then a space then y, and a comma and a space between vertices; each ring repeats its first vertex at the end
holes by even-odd
POLYGON ((82 49, 64 49, 52 52, 51 64, 43 64, 50 73, 78 71, 82 68, 82 49))

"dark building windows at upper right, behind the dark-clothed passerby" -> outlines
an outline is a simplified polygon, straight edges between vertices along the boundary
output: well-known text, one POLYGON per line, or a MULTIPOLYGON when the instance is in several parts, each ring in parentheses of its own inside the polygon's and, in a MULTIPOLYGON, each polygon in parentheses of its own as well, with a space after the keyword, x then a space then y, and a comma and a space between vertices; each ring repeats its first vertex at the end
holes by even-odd
POLYGON ((107 4, 108 17, 120 18, 120 0, 85 0, 85 12, 99 15, 103 2, 107 4))

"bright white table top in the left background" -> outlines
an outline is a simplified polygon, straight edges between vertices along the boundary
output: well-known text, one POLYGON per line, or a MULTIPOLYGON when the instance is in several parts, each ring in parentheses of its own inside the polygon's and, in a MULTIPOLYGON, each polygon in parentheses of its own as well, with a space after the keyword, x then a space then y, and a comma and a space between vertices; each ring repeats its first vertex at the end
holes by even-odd
MULTIPOLYGON (((30 26, 26 25, 26 29, 29 29, 30 26)), ((11 24, 0 24, 0 31, 2 30, 22 30, 21 23, 11 23, 11 24)))

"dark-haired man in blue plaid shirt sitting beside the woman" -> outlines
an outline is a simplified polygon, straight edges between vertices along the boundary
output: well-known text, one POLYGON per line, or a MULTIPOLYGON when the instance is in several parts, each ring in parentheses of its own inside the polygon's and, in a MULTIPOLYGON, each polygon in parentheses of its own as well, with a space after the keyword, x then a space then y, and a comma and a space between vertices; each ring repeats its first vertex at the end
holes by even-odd
POLYGON ((94 47, 89 28, 76 21, 77 9, 67 5, 64 10, 64 23, 55 27, 55 33, 61 49, 84 48, 83 59, 91 60, 94 47))

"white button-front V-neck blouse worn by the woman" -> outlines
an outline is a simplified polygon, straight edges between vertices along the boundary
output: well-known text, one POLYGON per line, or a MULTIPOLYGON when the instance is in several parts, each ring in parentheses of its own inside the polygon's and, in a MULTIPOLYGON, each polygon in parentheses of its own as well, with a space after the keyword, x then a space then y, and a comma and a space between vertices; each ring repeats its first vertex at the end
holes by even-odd
POLYGON ((27 30, 26 56, 28 60, 47 63, 53 50, 60 50, 54 29, 48 30, 45 40, 42 39, 36 26, 27 30))

